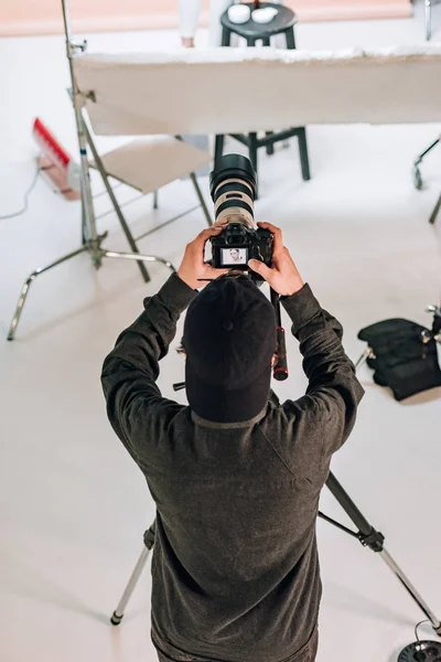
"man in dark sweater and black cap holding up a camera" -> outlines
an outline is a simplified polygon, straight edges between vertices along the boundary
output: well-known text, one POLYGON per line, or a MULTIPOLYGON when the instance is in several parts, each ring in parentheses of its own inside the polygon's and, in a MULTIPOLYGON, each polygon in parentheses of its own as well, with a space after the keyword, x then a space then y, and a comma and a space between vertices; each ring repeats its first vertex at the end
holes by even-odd
POLYGON ((270 392, 276 318, 261 290, 204 263, 205 242, 223 226, 189 244, 178 275, 146 299, 103 369, 110 423, 157 503, 152 640, 161 662, 315 660, 319 495, 363 388, 342 327, 303 284, 280 229, 259 225, 275 235, 272 267, 249 266, 282 297, 305 395, 281 405, 270 392), (162 397, 155 380, 187 306, 185 407, 162 397))

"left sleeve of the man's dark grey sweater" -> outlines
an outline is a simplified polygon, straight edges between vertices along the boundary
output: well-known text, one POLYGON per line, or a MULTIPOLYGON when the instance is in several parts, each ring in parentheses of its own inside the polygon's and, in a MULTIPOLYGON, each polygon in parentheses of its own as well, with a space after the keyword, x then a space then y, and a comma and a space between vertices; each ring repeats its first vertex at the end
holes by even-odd
POLYGON ((155 382, 179 317, 196 295, 173 274, 157 295, 144 300, 144 311, 122 331, 103 365, 108 418, 141 468, 149 460, 149 440, 160 439, 182 408, 162 397, 155 382))

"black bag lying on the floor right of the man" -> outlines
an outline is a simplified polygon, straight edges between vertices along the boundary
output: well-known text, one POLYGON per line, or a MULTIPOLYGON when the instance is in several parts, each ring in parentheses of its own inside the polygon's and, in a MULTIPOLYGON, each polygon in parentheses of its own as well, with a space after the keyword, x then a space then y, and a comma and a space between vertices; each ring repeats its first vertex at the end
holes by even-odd
POLYGON ((397 401, 441 386, 441 308, 430 306, 432 328, 389 319, 362 329, 367 348, 357 361, 374 371, 374 382, 388 386, 397 401))

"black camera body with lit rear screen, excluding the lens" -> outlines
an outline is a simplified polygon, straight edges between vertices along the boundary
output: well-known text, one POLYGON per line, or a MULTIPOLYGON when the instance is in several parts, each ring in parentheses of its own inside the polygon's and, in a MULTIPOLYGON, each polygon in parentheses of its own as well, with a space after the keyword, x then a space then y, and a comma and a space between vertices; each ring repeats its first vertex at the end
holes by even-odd
POLYGON ((212 266, 216 269, 248 270, 249 259, 259 259, 268 267, 272 260, 273 236, 268 229, 246 227, 230 222, 212 237, 212 266))

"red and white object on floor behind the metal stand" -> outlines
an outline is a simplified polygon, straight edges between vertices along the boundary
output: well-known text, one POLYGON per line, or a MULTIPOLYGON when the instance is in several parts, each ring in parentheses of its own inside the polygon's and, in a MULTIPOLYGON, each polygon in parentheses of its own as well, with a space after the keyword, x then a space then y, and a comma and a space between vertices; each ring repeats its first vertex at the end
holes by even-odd
POLYGON ((53 134, 36 118, 32 128, 35 142, 42 150, 39 166, 56 190, 67 200, 79 200, 78 166, 55 139, 53 134))

